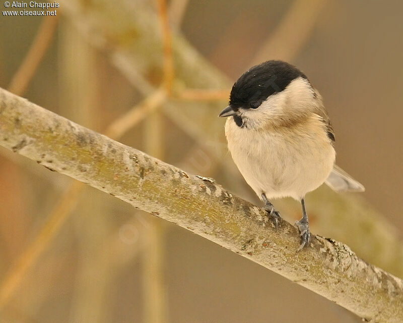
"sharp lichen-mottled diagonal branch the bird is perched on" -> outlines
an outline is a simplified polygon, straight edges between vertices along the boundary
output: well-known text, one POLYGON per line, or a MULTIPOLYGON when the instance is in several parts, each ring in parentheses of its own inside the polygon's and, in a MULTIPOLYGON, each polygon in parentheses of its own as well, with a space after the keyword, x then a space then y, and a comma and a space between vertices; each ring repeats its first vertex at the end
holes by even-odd
POLYGON ((173 222, 366 319, 403 320, 403 281, 320 236, 296 254, 297 230, 260 208, 0 89, 0 144, 38 164, 173 222))

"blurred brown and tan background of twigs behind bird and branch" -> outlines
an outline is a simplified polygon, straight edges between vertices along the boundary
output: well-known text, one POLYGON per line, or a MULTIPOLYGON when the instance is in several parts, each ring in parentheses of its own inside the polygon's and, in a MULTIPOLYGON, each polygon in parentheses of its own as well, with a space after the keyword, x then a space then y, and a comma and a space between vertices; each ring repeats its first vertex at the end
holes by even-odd
MULTIPOLYGON (((233 165, 217 115, 246 69, 289 61, 324 98, 338 165, 366 187, 310 193, 312 232, 403 277, 401 2, 58 4, 56 17, 0 16, 0 86, 260 205, 233 165), (168 98, 143 104, 161 84, 168 98)), ((289 221, 301 216, 294 201, 275 205, 289 221)), ((0 147, 0 322, 360 320, 0 147)))

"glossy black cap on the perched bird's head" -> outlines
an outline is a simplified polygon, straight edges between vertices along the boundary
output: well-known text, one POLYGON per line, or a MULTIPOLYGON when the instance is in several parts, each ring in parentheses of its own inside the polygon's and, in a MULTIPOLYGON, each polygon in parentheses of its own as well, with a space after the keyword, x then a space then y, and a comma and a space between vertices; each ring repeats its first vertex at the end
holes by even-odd
POLYGON ((283 61, 267 61, 243 73, 232 87, 230 105, 234 110, 256 108, 268 96, 283 91, 294 79, 308 78, 283 61))

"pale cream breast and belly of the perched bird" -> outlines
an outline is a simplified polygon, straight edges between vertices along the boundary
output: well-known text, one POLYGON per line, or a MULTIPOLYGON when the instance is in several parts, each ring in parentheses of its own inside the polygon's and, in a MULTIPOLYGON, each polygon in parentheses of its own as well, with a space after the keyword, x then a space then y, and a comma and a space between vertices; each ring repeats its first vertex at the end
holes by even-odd
POLYGON ((326 180, 334 165, 335 151, 315 116, 292 130, 240 128, 228 118, 225 134, 236 166, 259 197, 301 199, 326 180))

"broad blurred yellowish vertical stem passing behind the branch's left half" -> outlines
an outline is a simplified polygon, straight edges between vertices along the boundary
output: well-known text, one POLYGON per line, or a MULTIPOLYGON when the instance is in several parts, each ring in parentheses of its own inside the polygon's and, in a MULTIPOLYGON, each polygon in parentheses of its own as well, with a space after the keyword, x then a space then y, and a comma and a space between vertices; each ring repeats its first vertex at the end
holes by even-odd
MULTIPOLYGON (((92 129, 99 129, 99 111, 95 110, 99 106, 100 93, 97 80, 102 71, 98 66, 97 52, 68 22, 60 26, 59 48, 60 106, 63 114, 92 129)), ((74 209, 72 217, 77 232, 78 265, 75 268, 76 280, 72 288, 69 320, 97 323, 103 321, 110 309, 104 304, 113 258, 107 253, 98 252, 100 246, 105 248, 105 237, 109 234, 110 226, 107 217, 94 221, 96 214, 105 213, 104 197, 87 187, 83 187, 83 190, 86 199, 80 201, 78 197, 80 207, 74 209)), ((69 213, 71 211, 73 208, 69 213)))

